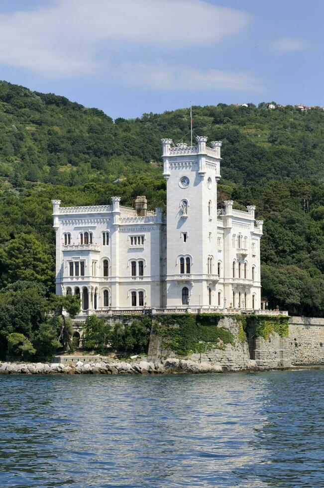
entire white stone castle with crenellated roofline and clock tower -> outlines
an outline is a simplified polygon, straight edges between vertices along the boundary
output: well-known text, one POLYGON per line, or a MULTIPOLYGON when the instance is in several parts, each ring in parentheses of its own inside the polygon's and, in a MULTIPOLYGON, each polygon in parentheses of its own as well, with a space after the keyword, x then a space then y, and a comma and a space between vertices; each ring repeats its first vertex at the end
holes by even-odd
POLYGON ((206 142, 162 139, 166 218, 160 208, 148 211, 143 196, 135 209, 119 197, 93 207, 52 201, 56 293, 78 294, 81 315, 261 308, 263 222, 252 205, 242 212, 225 201, 217 210, 221 142, 206 142))

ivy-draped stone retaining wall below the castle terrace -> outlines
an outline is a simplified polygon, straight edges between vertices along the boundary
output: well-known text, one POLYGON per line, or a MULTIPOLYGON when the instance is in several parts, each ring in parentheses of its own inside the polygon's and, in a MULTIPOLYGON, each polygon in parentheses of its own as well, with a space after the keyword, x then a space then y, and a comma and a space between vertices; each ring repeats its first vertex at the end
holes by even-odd
MULTIPOLYGON (((107 320, 113 326, 141 316, 107 320)), ((158 314, 151 321, 149 361, 177 357, 230 370, 324 365, 324 318, 158 314)), ((82 334, 82 324, 74 326, 82 334)))

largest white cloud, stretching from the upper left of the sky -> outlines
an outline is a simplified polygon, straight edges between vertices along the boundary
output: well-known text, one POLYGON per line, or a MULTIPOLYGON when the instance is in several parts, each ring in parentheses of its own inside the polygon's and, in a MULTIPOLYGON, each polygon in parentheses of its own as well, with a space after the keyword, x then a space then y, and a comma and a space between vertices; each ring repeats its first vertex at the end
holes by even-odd
POLYGON ((49 78, 91 75, 109 64, 112 48, 204 47, 249 21, 243 11, 204 0, 56 0, 0 15, 0 64, 49 78))

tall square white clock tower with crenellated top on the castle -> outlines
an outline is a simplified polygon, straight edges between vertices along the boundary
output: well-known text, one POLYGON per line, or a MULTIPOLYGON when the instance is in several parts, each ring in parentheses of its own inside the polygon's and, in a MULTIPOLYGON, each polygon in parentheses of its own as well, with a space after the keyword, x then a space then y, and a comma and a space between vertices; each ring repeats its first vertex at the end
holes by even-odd
POLYGON ((221 142, 196 146, 162 139, 167 180, 168 307, 216 306, 217 181, 221 142))

